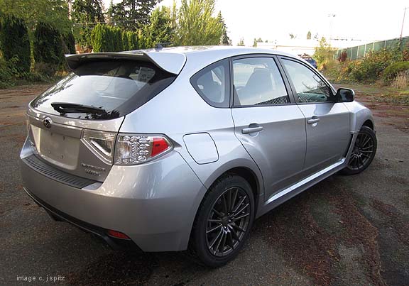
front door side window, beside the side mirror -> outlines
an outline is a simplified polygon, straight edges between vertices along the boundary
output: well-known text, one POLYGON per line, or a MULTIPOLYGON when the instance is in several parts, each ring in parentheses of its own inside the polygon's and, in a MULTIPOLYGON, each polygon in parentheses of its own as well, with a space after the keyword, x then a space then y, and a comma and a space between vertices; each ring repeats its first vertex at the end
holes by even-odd
POLYGON ((331 89, 315 72, 293 60, 283 60, 283 63, 295 87, 298 101, 333 101, 331 89))

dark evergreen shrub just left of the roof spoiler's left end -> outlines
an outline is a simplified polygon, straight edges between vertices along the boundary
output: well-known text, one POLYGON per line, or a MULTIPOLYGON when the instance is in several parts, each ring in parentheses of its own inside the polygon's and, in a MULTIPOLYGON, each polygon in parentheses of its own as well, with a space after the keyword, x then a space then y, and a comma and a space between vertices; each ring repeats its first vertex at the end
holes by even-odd
POLYGON ((48 23, 38 23, 34 32, 34 60, 60 66, 64 60, 64 48, 60 32, 48 23))

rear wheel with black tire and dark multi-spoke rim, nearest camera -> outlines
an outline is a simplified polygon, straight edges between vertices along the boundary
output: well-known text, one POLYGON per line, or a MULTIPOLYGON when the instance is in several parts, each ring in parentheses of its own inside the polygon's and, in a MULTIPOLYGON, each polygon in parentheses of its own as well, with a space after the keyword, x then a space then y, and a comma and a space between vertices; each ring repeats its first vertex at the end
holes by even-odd
POLYGON ((249 182, 238 175, 224 175, 214 182, 200 204, 190 253, 212 268, 228 263, 243 247, 253 220, 254 198, 249 182))

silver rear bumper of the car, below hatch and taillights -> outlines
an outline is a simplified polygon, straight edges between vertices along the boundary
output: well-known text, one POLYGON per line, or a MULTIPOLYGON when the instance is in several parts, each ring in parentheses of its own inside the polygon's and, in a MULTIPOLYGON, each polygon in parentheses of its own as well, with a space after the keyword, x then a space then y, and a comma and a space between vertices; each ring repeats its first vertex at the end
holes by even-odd
MULTIPOLYGON (((32 155, 26 143, 21 158, 32 155)), ((21 160, 26 192, 50 214, 102 237, 120 231, 142 251, 187 248, 206 188, 177 152, 136 166, 114 166, 97 189, 72 187, 21 160)))

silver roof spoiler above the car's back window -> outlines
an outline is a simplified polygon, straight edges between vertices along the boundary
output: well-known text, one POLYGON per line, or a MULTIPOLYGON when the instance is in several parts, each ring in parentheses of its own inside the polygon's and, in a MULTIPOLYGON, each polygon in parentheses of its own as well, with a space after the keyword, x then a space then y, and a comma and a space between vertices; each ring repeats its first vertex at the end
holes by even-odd
POLYGON ((85 53, 78 55, 65 55, 67 65, 71 70, 75 70, 83 62, 94 59, 126 59, 126 60, 148 60, 160 67, 162 70, 178 75, 186 62, 186 56, 181 53, 166 52, 144 52, 135 51, 132 53, 85 53))

